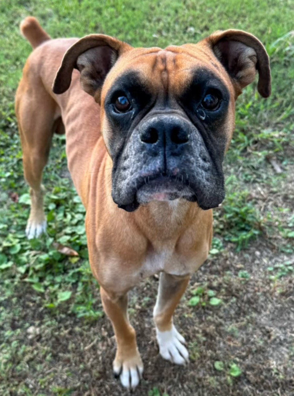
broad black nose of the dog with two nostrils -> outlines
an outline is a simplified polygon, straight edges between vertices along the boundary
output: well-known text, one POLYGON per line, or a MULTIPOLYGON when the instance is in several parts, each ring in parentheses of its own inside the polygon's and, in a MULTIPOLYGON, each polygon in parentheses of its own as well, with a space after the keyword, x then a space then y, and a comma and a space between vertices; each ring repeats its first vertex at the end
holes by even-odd
POLYGON ((140 128, 142 143, 149 145, 179 146, 190 139, 190 127, 187 122, 176 116, 154 116, 144 122, 140 128))

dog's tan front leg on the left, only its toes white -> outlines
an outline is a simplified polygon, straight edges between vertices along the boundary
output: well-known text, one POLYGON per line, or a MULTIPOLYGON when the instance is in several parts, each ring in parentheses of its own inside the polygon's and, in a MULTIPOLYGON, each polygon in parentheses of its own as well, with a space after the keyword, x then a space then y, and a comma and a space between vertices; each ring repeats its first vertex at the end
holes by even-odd
POLYGON ((131 326, 127 314, 127 293, 119 297, 107 293, 102 287, 100 293, 104 311, 112 322, 116 336, 114 375, 120 378, 126 388, 135 388, 142 377, 143 363, 137 348, 135 329, 131 326))

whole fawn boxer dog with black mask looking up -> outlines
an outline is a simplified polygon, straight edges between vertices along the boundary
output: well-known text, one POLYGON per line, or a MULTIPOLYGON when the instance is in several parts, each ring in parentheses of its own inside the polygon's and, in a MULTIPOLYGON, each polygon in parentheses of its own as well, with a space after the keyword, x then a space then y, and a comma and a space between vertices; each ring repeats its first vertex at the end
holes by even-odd
POLYGON ((68 168, 87 211, 90 265, 116 335, 114 373, 134 388, 143 364, 127 291, 161 273, 153 313, 159 352, 188 361, 173 313, 209 253, 235 100, 256 70, 258 91, 269 96, 269 59, 240 30, 165 49, 102 34, 51 40, 33 17, 21 31, 34 48, 16 94, 32 198, 27 236, 45 231, 42 171, 52 134, 65 129, 68 168))

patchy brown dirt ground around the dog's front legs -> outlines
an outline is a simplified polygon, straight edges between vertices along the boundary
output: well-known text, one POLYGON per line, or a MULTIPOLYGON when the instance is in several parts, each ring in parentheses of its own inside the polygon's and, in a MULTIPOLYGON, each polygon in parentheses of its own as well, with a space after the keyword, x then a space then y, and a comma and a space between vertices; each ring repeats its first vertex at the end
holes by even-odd
MULTIPOLYGON (((193 276, 176 311, 175 324, 189 346, 187 367, 173 366, 158 355, 151 317, 157 280, 152 278, 131 292, 130 317, 145 369, 134 395, 147 395, 154 387, 169 396, 294 394, 294 278, 269 280, 267 271, 269 265, 289 257, 265 241, 241 253, 235 253, 234 247, 227 246, 221 257, 207 261, 193 276), (238 276, 240 270, 247 271, 247 278, 238 276), (200 285, 202 302, 207 302, 210 289, 223 303, 188 307, 188 299, 200 285), (224 362, 223 371, 214 369, 215 361, 224 362), (239 377, 228 375, 231 362, 241 368, 239 377)), ((1 326, 12 329, 17 345, 26 346, 30 353, 21 362, 21 352, 15 350, 9 371, 11 389, 5 394, 18 396, 19 384, 34 395, 52 394, 52 385, 61 395, 128 394, 112 375, 115 344, 106 317, 85 324, 66 312, 52 316, 32 303, 28 287, 6 301, 7 311, 15 312, 16 307, 18 315, 1 326)))

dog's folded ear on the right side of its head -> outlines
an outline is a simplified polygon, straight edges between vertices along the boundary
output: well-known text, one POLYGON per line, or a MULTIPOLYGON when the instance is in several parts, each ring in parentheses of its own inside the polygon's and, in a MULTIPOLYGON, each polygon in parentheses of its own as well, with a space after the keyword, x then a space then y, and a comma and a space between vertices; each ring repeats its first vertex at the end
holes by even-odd
POLYGON ((271 94, 269 57, 262 43, 242 30, 218 30, 207 39, 209 46, 228 72, 236 96, 250 84, 258 70, 258 92, 263 97, 271 94))

